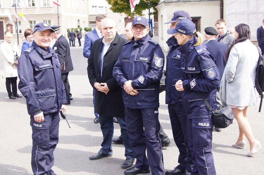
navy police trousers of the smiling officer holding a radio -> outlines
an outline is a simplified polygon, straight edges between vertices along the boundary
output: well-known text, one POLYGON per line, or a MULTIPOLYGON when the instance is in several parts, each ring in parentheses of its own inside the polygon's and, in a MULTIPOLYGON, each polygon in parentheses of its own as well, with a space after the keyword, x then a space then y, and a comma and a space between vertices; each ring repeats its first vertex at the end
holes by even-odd
POLYGON ((32 126, 31 167, 34 175, 55 175, 51 169, 54 165, 53 152, 59 142, 59 113, 44 114, 44 121, 35 122, 30 117, 32 126))

